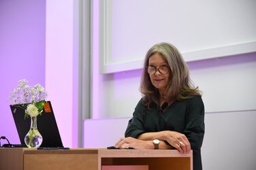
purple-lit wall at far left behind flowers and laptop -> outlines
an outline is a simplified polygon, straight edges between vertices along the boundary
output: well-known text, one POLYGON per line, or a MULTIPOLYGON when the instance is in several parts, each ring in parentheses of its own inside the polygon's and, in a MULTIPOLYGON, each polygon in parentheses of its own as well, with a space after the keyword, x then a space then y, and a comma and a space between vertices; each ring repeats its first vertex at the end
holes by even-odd
MULTIPOLYGON (((46 1, 0 1, 0 136, 20 143, 8 99, 18 80, 45 86, 46 1)), ((5 143, 6 141, 1 141, 5 143)))

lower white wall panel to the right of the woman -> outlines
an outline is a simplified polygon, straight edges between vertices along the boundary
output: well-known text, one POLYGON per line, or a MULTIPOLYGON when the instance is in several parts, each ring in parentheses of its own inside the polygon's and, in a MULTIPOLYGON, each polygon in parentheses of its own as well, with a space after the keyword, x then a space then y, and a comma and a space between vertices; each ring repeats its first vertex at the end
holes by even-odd
POLYGON ((204 169, 255 169, 255 120, 255 110, 206 114, 202 146, 204 169))

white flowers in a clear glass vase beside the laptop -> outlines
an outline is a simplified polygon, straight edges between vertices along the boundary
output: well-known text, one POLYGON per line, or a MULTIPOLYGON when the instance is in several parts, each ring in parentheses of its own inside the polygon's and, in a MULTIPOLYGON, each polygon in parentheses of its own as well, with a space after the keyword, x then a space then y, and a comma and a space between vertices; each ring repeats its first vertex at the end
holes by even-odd
POLYGON ((41 115, 46 103, 47 93, 40 84, 29 86, 27 80, 19 80, 18 87, 10 95, 16 107, 25 110, 25 119, 31 118, 31 127, 25 136, 28 148, 38 148, 43 141, 42 135, 37 130, 37 116, 41 115))

